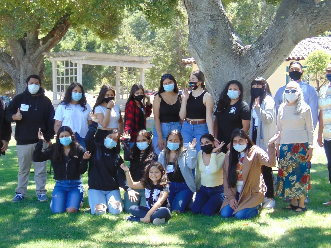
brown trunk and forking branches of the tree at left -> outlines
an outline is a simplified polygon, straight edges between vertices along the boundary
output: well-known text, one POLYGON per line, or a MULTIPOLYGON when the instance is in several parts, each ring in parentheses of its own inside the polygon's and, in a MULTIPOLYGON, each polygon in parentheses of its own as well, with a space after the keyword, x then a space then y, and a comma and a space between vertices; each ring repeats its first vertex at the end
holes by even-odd
POLYGON ((25 90, 25 80, 29 75, 37 74, 43 78, 45 65, 42 53, 49 52, 67 33, 71 26, 68 17, 64 16, 43 38, 38 37, 40 25, 36 24, 19 40, 7 39, 11 54, 0 51, 0 68, 13 79, 16 95, 25 90))

